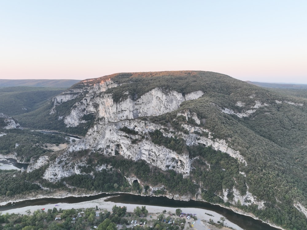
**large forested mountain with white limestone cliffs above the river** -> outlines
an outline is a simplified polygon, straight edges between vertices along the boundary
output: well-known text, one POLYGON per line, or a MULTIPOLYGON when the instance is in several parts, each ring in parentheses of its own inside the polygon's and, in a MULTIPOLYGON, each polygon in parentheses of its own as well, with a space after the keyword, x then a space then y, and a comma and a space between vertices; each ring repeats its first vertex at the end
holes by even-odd
MULTIPOLYGON (((84 137, 56 152, 39 151, 44 142, 31 137, 40 143, 36 154, 17 154, 30 164, 22 176, 6 173, 1 188, 12 189, 2 189, 3 199, 34 194, 37 184, 163 195, 235 206, 285 229, 307 229, 304 88, 263 88, 205 71, 117 73, 80 81, 17 112, 21 127, 84 137), (32 192, 15 189, 18 178, 32 192)), ((3 148, 12 142, 2 150, 7 154, 21 139, 21 131, 10 132, 11 138, 0 131, 3 148)))

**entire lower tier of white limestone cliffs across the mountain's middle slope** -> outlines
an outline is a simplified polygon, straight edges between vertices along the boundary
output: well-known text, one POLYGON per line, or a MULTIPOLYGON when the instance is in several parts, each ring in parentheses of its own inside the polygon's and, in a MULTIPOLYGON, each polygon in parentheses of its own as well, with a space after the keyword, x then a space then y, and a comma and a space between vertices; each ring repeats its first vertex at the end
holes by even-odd
MULTIPOLYGON (((247 165, 239 151, 231 149, 226 144, 225 140, 213 139, 208 130, 201 129, 200 127, 192 127, 187 124, 183 124, 183 127, 188 130, 188 134, 178 131, 176 134, 180 135, 181 138, 185 140, 186 145, 192 146, 202 144, 212 146, 213 149, 223 151, 238 159, 239 162, 247 165), (206 132, 208 133, 208 137, 199 136, 196 132, 206 132)), ((64 154, 59 155, 56 161, 50 162, 44 177, 47 180, 56 181, 76 173, 79 174, 79 167, 85 164, 82 160, 76 162, 69 153, 80 150, 98 151, 105 155, 120 154, 134 161, 142 159, 150 165, 156 166, 162 170, 173 169, 178 173, 182 173, 184 177, 188 177, 193 162, 193 159, 189 158, 188 154, 178 154, 165 146, 156 145, 151 142, 149 134, 155 130, 160 130, 166 137, 173 136, 172 132, 174 132, 174 130, 169 129, 165 131, 164 128, 165 127, 161 125, 139 119, 122 120, 108 124, 96 124, 88 131, 84 138, 70 144, 64 154), (133 130, 137 134, 127 134, 121 131, 123 127, 133 130)), ((30 169, 42 166, 43 163, 41 162, 45 162, 46 164, 45 158, 40 158, 37 161, 38 166, 32 166, 30 169)), ((99 167, 105 168, 105 166, 98 166, 98 168, 99 167)))

